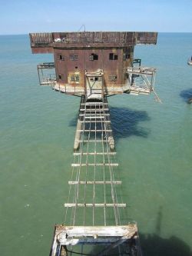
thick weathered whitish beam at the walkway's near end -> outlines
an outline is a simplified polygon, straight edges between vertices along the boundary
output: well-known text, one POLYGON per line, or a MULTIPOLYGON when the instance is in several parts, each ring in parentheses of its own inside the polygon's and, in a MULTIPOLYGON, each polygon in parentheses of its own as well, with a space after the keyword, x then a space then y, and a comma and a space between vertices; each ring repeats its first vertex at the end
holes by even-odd
MULTIPOLYGON (((119 241, 127 241, 130 238, 137 239, 137 225, 126 226, 55 226, 52 252, 55 255, 57 244, 101 244, 114 246, 119 241)), ((108 248, 107 248, 108 249, 108 248)), ((105 250, 105 249, 104 249, 105 250)), ((104 251, 101 252, 102 254, 104 251)))

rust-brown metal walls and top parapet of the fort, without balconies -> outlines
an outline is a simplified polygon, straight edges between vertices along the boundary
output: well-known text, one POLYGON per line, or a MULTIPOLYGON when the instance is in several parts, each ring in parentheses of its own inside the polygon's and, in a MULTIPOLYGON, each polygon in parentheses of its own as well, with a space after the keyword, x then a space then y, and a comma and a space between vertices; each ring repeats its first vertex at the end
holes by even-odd
POLYGON ((53 53, 57 82, 84 88, 86 71, 104 71, 104 86, 125 85, 134 45, 156 44, 156 32, 31 33, 33 53, 53 53))

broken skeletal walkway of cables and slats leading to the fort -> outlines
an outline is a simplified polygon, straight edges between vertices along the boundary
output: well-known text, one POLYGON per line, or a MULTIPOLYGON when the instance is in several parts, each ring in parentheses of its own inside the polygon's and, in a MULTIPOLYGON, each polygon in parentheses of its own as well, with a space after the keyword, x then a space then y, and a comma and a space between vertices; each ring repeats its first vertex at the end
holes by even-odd
POLYGON ((121 224, 127 211, 107 98, 81 97, 73 155, 65 225, 55 226, 50 256, 141 255, 137 224, 121 224))

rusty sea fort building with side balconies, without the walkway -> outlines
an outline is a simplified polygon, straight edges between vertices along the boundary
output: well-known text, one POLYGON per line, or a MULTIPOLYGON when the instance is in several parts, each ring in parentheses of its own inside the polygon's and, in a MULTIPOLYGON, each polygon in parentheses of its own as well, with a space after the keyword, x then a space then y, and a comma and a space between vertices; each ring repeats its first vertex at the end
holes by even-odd
POLYGON ((40 85, 87 98, 154 91, 155 68, 141 67, 134 45, 156 44, 155 32, 32 33, 30 38, 33 53, 55 58, 38 65, 40 85))

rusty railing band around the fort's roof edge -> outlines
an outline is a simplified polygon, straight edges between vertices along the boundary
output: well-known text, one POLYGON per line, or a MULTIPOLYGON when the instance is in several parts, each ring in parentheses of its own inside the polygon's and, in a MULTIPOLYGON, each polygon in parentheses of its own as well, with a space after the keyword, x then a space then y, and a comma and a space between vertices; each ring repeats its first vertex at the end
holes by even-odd
POLYGON ((53 32, 31 33, 31 46, 51 44, 104 43, 104 44, 156 44, 156 32, 53 32))

